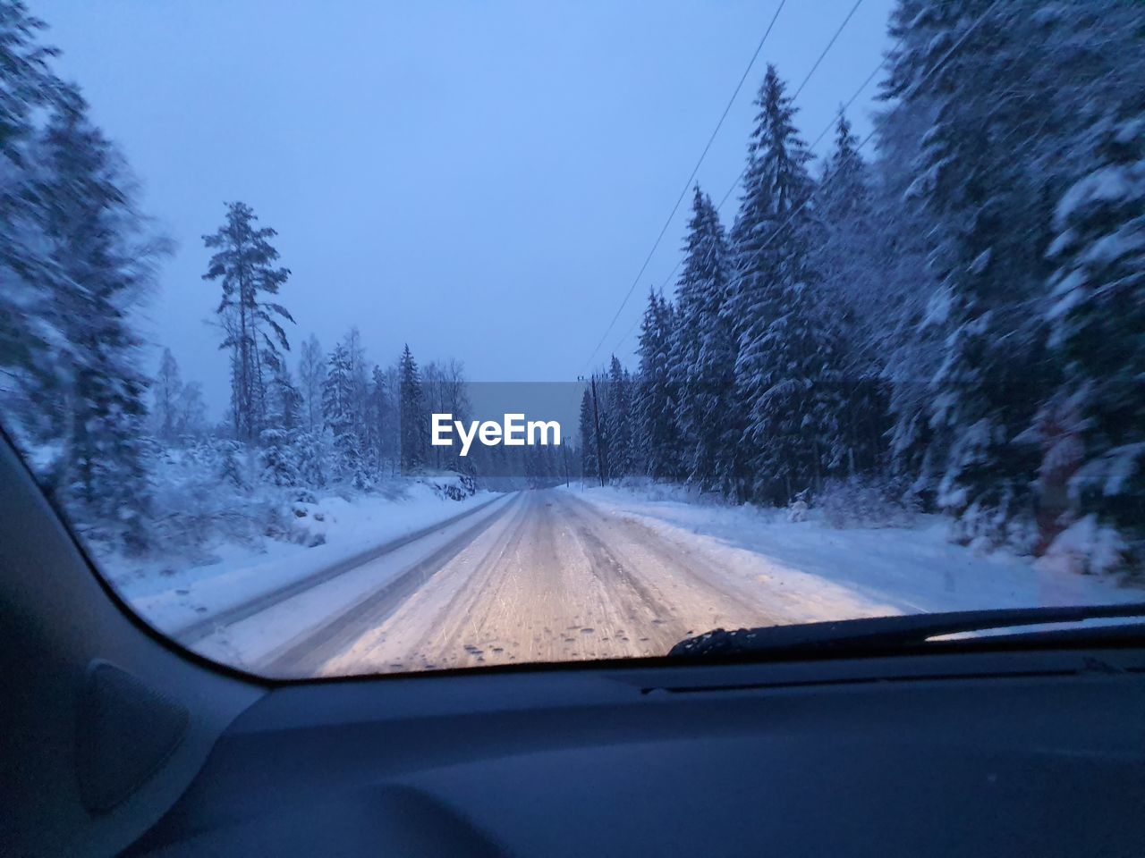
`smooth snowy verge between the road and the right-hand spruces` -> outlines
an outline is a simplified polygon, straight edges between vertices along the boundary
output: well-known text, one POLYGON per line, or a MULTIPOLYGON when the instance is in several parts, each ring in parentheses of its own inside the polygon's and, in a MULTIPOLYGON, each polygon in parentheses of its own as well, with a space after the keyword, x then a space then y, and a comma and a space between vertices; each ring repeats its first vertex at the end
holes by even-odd
POLYGON ((783 510, 704 503, 671 487, 570 491, 611 516, 695 546, 731 575, 782 588, 807 621, 1145 599, 1145 589, 1120 578, 954 545, 938 516, 918 516, 913 526, 840 530, 814 510, 807 521, 791 522, 783 510))

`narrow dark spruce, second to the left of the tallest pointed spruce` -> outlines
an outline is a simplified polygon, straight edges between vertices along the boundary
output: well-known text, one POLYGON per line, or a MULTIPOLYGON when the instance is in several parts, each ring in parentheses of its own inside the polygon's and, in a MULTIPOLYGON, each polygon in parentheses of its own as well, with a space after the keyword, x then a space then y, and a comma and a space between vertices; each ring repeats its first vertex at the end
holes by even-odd
POLYGON ((657 480, 680 475, 677 400, 669 371, 673 325, 672 305, 649 289, 640 324, 640 368, 632 386, 632 446, 641 471, 657 480))

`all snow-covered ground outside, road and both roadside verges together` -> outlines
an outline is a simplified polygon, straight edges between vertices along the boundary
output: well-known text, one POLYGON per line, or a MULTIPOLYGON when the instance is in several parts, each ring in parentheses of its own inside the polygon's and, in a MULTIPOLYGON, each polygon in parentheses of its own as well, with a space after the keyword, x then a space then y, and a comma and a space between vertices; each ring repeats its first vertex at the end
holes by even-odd
POLYGON ((292 509, 323 545, 223 542, 212 564, 119 570, 117 585, 197 651, 278 676, 662 656, 717 627, 1145 599, 954 545, 938 517, 839 529, 664 486, 450 501, 414 483, 292 509))

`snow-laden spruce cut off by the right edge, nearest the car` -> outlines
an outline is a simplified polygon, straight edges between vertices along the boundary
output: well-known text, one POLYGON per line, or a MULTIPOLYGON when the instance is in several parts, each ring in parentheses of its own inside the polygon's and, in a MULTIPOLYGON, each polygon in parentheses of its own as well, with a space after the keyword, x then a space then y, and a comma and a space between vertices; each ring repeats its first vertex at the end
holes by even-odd
MULTIPOLYGON (((1055 213, 1050 345, 1065 367, 1065 383, 1043 411, 1072 411, 1074 419, 1072 430, 1045 447, 1041 467, 1044 492, 1063 444, 1075 451, 1080 468, 1068 480, 1069 513, 1113 525, 1137 564, 1145 561, 1143 93, 1095 124, 1097 164, 1063 194, 1055 213)), ((1044 427, 1043 418, 1043 440, 1044 427)))

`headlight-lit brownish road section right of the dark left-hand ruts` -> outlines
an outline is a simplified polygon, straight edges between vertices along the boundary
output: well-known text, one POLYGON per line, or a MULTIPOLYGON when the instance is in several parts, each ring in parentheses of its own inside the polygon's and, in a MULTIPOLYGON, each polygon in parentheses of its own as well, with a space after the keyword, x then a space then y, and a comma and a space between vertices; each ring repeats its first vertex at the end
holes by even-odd
POLYGON ((768 595, 575 494, 521 492, 396 610, 364 620, 349 646, 305 668, 334 675, 660 656, 718 626, 782 622, 782 602, 768 595))

